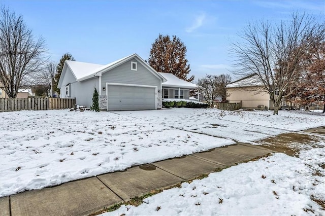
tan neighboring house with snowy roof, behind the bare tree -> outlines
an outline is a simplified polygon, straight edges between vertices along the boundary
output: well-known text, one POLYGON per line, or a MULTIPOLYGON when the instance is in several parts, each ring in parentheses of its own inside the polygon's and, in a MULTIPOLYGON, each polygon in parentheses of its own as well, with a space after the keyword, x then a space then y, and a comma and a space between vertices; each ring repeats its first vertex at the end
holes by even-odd
POLYGON ((230 103, 239 103, 243 109, 274 109, 270 94, 262 89, 255 76, 248 76, 226 86, 227 97, 230 103))

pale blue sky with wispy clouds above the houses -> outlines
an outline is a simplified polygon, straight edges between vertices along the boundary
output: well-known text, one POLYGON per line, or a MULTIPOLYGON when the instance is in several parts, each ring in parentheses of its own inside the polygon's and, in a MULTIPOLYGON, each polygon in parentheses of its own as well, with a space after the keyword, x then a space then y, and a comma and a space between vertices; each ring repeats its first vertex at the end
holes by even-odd
POLYGON ((231 44, 249 23, 288 20, 306 12, 321 20, 318 1, 0 1, 22 15, 42 37, 50 60, 64 53, 77 61, 108 64, 137 53, 148 59, 159 33, 176 35, 186 46, 190 74, 231 74, 231 44))

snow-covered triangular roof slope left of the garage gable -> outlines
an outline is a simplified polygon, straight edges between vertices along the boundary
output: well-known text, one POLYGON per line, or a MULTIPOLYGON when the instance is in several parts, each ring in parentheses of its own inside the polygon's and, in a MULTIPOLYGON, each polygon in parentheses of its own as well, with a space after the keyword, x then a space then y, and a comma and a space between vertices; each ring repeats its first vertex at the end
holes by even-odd
POLYGON ((81 79, 89 74, 89 71, 94 71, 103 66, 103 64, 92 64, 80 61, 70 61, 66 60, 66 64, 72 70, 72 73, 75 75, 76 79, 81 79))

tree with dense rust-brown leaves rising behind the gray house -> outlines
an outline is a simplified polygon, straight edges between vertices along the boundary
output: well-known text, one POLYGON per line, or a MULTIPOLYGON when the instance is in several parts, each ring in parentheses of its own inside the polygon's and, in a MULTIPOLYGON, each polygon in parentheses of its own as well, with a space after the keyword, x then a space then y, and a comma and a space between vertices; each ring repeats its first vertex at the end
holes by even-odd
POLYGON ((158 72, 171 73, 181 80, 193 81, 194 76, 187 78, 190 72, 186 59, 186 46, 181 40, 173 35, 159 34, 152 44, 148 63, 158 72))

